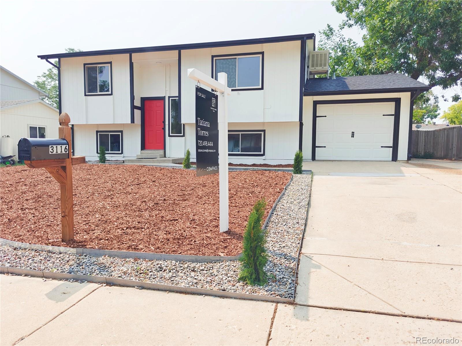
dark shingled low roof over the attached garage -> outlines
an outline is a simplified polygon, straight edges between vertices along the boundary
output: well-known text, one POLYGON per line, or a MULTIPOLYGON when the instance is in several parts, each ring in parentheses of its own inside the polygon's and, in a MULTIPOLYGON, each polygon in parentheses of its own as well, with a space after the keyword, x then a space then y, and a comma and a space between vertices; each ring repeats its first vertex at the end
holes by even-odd
POLYGON ((430 87, 401 73, 371 76, 310 78, 306 80, 303 95, 371 94, 428 90, 430 87))

